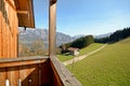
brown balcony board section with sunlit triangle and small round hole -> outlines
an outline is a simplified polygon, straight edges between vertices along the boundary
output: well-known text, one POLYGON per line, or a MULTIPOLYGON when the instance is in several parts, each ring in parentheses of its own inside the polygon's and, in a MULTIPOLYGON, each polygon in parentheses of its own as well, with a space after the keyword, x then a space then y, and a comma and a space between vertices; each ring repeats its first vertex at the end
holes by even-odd
POLYGON ((38 64, 20 67, 20 78, 23 86, 39 86, 38 64))

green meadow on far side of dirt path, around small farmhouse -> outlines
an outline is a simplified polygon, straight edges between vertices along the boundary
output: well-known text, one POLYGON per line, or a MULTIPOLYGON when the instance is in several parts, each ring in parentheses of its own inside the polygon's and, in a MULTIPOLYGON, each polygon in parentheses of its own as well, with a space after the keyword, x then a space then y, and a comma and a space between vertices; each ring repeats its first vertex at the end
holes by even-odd
MULTIPOLYGON (((87 54, 87 53, 90 53, 99 47, 101 47, 103 44, 99 44, 99 43, 93 43, 91 45, 89 45, 88 47, 84 47, 82 49, 80 49, 80 55, 83 55, 83 54, 87 54)), ((57 55, 57 58, 61 60, 61 61, 66 61, 66 60, 69 60, 69 59, 73 59, 74 56, 72 55, 68 55, 68 54, 63 54, 63 55, 57 55)))

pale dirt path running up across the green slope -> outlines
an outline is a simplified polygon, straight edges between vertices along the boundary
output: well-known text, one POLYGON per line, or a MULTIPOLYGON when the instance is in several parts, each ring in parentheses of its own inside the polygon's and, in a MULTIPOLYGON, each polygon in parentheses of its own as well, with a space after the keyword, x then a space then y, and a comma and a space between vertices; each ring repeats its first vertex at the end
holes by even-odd
POLYGON ((88 53, 88 54, 86 54, 86 55, 82 55, 82 56, 75 57, 74 59, 70 59, 70 60, 68 60, 68 61, 65 61, 65 62, 63 62, 63 63, 64 63, 65 66, 68 66, 68 64, 70 64, 70 63, 74 63, 74 62, 77 62, 77 61, 79 61, 79 60, 82 60, 82 59, 84 59, 86 57, 88 57, 88 56, 90 56, 90 55, 99 52, 100 49, 104 48, 106 45, 107 45, 107 44, 104 44, 103 46, 101 46, 100 48, 98 48, 98 49, 95 49, 95 51, 93 51, 93 52, 90 52, 90 53, 88 53))

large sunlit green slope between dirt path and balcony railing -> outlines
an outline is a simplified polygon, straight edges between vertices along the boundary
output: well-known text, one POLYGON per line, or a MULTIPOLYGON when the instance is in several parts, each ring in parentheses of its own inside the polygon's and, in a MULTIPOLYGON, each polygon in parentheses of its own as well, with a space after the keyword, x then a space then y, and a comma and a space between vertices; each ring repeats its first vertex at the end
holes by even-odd
POLYGON ((130 38, 67 68, 83 86, 130 86, 130 38))

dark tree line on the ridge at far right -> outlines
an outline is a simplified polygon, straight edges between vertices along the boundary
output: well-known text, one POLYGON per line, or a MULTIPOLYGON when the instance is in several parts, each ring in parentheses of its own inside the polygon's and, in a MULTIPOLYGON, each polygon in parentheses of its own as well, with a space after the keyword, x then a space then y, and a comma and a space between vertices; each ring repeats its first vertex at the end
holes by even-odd
POLYGON ((94 39, 94 42, 96 42, 96 43, 115 43, 115 42, 123 40, 128 37, 130 37, 130 27, 123 28, 122 30, 117 30, 114 33, 112 33, 109 37, 94 39))

